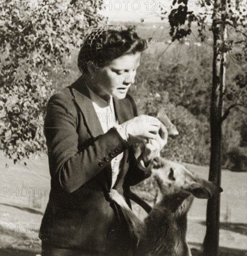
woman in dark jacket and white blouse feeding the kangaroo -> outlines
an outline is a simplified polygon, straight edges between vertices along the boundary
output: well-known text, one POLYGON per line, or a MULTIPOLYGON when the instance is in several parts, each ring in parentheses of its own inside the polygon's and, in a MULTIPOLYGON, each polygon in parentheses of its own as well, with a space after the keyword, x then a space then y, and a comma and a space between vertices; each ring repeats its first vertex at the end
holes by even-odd
POLYGON ((40 227, 42 256, 126 256, 136 246, 111 191, 118 190, 131 208, 127 190, 150 175, 152 150, 159 152, 167 141, 160 121, 137 116, 127 94, 146 48, 132 28, 94 29, 78 57, 82 76, 49 100, 51 191, 40 227))

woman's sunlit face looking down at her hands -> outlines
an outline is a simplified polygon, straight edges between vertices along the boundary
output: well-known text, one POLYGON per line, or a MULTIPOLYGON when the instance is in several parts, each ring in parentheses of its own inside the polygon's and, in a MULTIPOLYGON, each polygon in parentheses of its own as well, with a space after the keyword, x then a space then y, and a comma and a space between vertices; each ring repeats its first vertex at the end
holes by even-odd
POLYGON ((106 67, 97 69, 93 78, 95 93, 108 100, 110 95, 122 100, 134 83, 136 69, 140 66, 141 53, 128 54, 114 59, 106 67))

